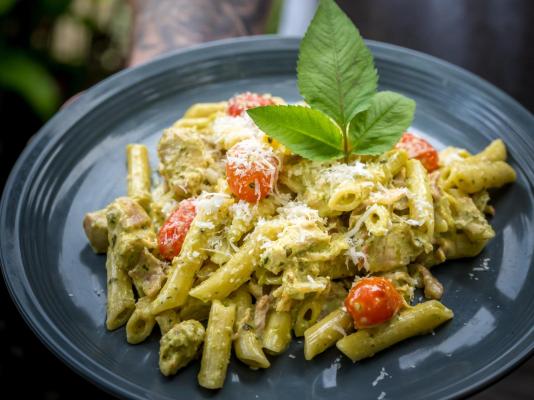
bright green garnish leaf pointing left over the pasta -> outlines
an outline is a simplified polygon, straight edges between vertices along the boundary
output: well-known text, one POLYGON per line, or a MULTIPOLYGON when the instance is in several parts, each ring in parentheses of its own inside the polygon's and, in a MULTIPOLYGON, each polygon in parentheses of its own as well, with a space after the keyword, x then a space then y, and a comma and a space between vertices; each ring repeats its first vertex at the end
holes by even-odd
POLYGON ((293 153, 314 161, 343 156, 341 130, 320 111, 301 106, 266 106, 247 113, 262 131, 293 153))

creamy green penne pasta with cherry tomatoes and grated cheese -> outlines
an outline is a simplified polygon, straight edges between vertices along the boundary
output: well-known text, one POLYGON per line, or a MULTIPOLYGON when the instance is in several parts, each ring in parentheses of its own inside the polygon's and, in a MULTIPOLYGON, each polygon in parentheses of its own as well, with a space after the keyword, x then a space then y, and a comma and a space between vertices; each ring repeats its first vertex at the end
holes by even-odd
POLYGON ((128 145, 127 196, 85 216, 107 254, 107 328, 136 344, 157 326, 166 376, 201 357, 198 382, 215 389, 232 350, 268 368, 303 337, 307 360, 336 346, 356 362, 430 333, 453 317, 432 269, 495 235, 488 190, 516 178, 501 140, 438 153, 405 133, 381 154, 314 161, 247 114, 284 104, 193 105, 163 132, 159 175, 128 145))

